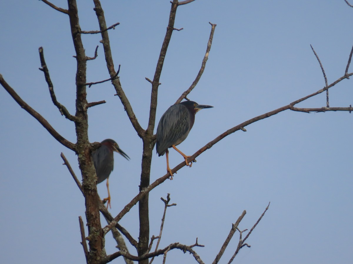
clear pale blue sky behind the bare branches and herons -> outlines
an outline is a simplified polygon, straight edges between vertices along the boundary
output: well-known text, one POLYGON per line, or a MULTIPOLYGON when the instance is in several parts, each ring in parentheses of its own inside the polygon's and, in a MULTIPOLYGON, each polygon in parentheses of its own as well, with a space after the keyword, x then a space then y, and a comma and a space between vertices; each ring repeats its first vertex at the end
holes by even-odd
MULTIPOLYGON (((66 8, 64 0, 52 1, 66 8)), ((353 4, 353 2, 351 3, 353 4)), ((68 17, 41 1, 0 4, 0 73, 32 108, 71 142, 71 121, 53 105, 38 48, 43 46, 56 97, 74 114, 76 61, 68 17)), ((114 63, 142 127, 148 123, 150 83, 169 18, 166 1, 102 1, 114 63)), ((78 1, 82 30, 97 30, 93 2, 78 1)), ((189 98, 213 105, 196 116, 188 138, 179 145, 191 155, 219 134, 257 115, 287 105, 323 88, 325 82, 310 44, 324 66, 328 82, 344 75, 353 44, 353 8, 345 1, 208 1, 180 6, 158 90, 157 120, 195 79, 210 33, 217 24, 204 74, 189 98)), ((87 81, 108 78, 100 36, 83 36, 87 81)), ((352 72, 352 66, 349 72, 352 72)), ((137 193, 142 141, 133 130, 109 82, 88 88, 88 100, 107 103, 89 109, 92 142, 115 139, 130 156, 115 155, 110 175, 116 215, 137 193)), ((330 89, 330 106, 353 104, 352 80, 330 89)), ((325 94, 298 107, 322 107, 325 94)), ((0 254, 4 263, 84 263, 78 216, 84 198, 62 165, 63 152, 79 176, 77 157, 0 89, 0 254), (63 252, 65 252, 63 254, 63 252), (55 256, 55 257, 54 257, 55 256)), ((234 223, 251 228, 266 215, 234 263, 352 263, 353 217, 352 115, 348 112, 285 111, 237 131, 184 167, 173 181, 150 193, 150 236, 158 235, 163 214, 160 197, 170 193, 177 206, 167 210, 160 247, 170 243, 196 248, 212 262, 234 223)), ((172 167, 183 159, 170 151, 172 167)), ((165 157, 154 152, 151 181, 166 172, 165 157)), ((104 183, 98 185, 106 197, 104 183)), ((104 223, 104 219, 102 219, 104 223)), ((120 224, 138 237, 137 207, 120 224)), ((238 242, 235 234, 221 262, 227 263, 238 242)), ((115 241, 106 237, 107 253, 115 241)), ((130 249, 131 253, 135 253, 130 249)), ((195 263, 192 256, 171 251, 167 263, 195 263)), ((122 259, 114 263, 123 263, 122 259)), ((157 258, 154 263, 162 263, 157 258)))

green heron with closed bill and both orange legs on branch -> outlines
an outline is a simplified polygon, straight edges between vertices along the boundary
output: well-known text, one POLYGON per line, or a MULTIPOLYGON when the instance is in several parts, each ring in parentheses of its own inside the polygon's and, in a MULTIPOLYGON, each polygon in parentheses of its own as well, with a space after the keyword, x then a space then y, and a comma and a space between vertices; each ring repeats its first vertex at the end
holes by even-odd
POLYGON ((162 115, 157 127, 157 142, 156 150, 158 156, 163 156, 166 153, 167 172, 173 179, 172 170, 169 168, 168 148, 172 147, 183 155, 186 166, 191 167, 191 163, 187 162, 190 156, 186 156, 183 152, 177 149, 177 145, 183 142, 189 134, 194 122, 195 114, 203 108, 211 108, 209 105, 199 105, 194 101, 184 101, 176 105, 172 105, 162 115))

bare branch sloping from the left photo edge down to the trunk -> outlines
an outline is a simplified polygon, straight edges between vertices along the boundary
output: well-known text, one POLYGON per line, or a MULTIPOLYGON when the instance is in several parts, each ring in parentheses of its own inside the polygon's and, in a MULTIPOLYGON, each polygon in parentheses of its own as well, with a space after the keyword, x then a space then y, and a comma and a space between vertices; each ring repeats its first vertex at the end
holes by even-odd
POLYGON ((43 118, 38 112, 36 112, 32 107, 30 107, 25 101, 23 101, 18 94, 12 89, 12 87, 4 80, 2 75, 0 74, 0 84, 2 87, 5 88, 5 90, 12 96, 12 98, 19 104, 20 107, 25 109, 32 117, 37 119, 38 122, 56 139, 58 142, 60 142, 62 145, 67 147, 68 149, 71 149, 73 151, 76 151, 76 146, 75 144, 71 143, 64 137, 62 137, 56 130, 48 123, 48 121, 43 118))

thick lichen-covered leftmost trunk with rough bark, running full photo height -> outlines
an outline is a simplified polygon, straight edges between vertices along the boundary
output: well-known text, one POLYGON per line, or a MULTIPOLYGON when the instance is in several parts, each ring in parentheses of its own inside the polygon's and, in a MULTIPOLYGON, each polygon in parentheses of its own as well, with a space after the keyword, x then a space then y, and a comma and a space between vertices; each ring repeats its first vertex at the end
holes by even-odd
POLYGON ((86 55, 83 48, 80 26, 78 21, 77 4, 75 0, 68 0, 68 15, 74 48, 76 51, 76 153, 83 180, 83 193, 85 196, 86 220, 88 225, 89 256, 88 263, 97 263, 106 257, 104 251, 104 236, 101 227, 98 207, 99 196, 97 193, 96 177, 91 149, 88 140, 88 115, 86 99, 86 55))

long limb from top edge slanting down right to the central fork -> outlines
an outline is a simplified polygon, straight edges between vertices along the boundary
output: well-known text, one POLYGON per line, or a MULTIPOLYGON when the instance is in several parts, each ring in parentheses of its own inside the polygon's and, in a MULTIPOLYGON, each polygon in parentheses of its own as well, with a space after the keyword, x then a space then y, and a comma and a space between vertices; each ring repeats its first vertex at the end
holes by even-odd
MULTIPOLYGON (((110 74, 110 77, 113 78, 116 71, 114 69, 114 63, 113 63, 113 57, 112 57, 112 51, 110 50, 110 42, 109 42, 109 35, 107 31, 107 24, 106 20, 104 18, 104 12, 101 6, 101 2, 99 0, 93 0, 95 8, 94 10, 96 11, 97 19, 98 19, 98 24, 100 27, 101 35, 102 35, 102 44, 103 44, 103 49, 104 49, 104 56, 106 59, 107 63, 107 68, 110 74)), ((137 118, 132 110, 132 107, 130 105, 129 100, 127 99, 124 90, 121 87, 120 80, 119 78, 114 78, 112 79, 112 84, 115 88, 116 95, 119 96, 120 101, 122 105, 124 106, 124 109, 127 113, 128 118, 130 119, 130 122, 134 129, 136 130, 137 134, 139 137, 142 137, 144 134, 143 128, 140 126, 139 122, 137 121, 137 118)))

